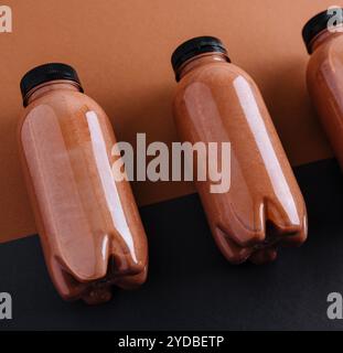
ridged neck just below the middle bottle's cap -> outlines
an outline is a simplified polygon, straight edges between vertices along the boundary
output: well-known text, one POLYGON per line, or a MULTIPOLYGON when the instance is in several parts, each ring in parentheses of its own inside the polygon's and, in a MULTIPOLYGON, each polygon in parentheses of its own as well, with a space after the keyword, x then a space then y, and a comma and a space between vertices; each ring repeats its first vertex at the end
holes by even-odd
POLYGON ((224 53, 211 52, 204 53, 189 58, 184 62, 175 72, 176 79, 180 81, 189 72, 193 71, 203 65, 213 64, 213 63, 229 63, 229 58, 224 53))

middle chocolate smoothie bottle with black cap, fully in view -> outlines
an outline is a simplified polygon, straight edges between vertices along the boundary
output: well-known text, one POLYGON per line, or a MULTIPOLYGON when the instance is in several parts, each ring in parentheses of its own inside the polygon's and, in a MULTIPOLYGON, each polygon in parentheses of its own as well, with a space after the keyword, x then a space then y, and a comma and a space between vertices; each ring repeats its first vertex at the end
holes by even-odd
POLYGON ((210 180, 195 181, 224 256, 233 264, 262 264, 276 258, 279 245, 301 245, 307 238, 303 197, 254 81, 211 36, 180 45, 172 65, 181 140, 231 142, 228 192, 211 193, 210 180))

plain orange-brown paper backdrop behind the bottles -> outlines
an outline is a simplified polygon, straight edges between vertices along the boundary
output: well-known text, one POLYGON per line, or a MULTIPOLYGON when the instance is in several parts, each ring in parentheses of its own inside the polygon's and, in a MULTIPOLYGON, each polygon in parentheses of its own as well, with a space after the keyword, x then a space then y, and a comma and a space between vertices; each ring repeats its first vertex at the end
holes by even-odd
MULTIPOLYGON (((331 157, 304 85, 304 22, 325 0, 7 0, 13 33, 0 33, 0 242, 35 233, 15 141, 19 82, 33 66, 65 62, 114 122, 119 140, 176 140, 170 55, 215 35, 259 85, 293 165, 331 157)), ((342 3, 341 3, 342 6, 342 3)), ((136 183, 140 205, 193 192, 189 183, 136 183)))

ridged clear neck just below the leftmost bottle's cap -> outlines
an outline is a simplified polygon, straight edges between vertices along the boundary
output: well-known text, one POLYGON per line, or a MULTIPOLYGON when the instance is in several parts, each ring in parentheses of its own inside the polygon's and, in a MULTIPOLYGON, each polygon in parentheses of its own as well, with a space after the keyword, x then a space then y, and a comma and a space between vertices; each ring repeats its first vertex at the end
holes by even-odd
POLYGON ((74 81, 68 81, 68 79, 51 81, 32 88, 24 97, 24 106, 28 106, 35 99, 41 98, 47 93, 52 90, 57 90, 57 89, 83 92, 79 84, 74 81))

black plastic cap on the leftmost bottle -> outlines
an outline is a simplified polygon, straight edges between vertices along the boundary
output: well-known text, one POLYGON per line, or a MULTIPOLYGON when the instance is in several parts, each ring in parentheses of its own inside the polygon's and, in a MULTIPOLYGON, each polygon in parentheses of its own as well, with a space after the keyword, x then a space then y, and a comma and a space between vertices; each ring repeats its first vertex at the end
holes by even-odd
POLYGON ((72 66, 60 63, 44 64, 30 69, 20 82, 24 107, 28 105, 26 96, 32 88, 56 79, 73 81, 77 83, 79 90, 83 92, 77 73, 72 66))

